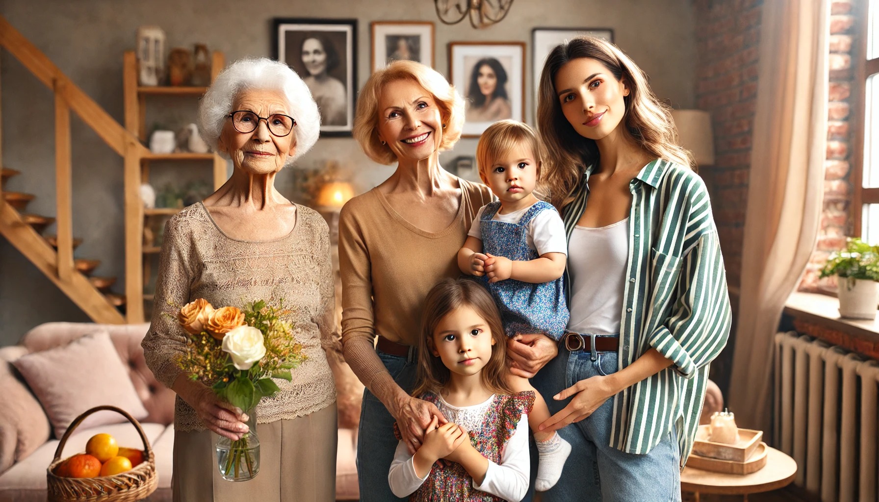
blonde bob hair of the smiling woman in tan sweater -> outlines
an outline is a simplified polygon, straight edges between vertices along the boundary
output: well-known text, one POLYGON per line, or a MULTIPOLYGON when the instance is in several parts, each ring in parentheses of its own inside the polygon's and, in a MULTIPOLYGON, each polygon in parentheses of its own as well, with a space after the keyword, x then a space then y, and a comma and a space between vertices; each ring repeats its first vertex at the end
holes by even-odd
POLYGON ((395 61, 377 70, 364 84, 357 97, 357 113, 354 115, 352 135, 367 156, 379 164, 394 164, 396 156, 388 145, 379 141, 379 98, 385 85, 397 80, 410 80, 425 88, 437 106, 442 123, 446 125, 439 142, 439 151, 452 149, 461 139, 464 126, 464 99, 449 84, 446 77, 420 62, 395 61))

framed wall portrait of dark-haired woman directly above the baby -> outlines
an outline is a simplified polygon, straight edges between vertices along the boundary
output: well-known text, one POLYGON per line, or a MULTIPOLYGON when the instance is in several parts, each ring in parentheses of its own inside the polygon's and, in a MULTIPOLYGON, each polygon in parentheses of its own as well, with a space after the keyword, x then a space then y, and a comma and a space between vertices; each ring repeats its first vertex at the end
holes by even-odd
POLYGON ((524 42, 452 42, 448 61, 467 100, 464 137, 479 137, 498 120, 525 120, 524 42))

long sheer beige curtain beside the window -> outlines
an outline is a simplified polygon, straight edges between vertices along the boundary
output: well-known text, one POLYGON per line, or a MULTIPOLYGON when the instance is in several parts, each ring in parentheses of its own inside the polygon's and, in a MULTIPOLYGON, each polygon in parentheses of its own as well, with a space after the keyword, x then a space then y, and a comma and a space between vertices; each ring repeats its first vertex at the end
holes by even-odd
POLYGON ((773 338, 824 198, 829 0, 763 4, 730 411, 769 431, 773 338))

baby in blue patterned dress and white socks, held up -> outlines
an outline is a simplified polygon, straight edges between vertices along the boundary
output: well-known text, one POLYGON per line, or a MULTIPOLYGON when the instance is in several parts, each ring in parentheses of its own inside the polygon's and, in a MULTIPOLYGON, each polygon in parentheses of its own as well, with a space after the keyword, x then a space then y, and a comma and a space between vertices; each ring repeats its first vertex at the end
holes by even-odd
MULTIPOLYGON (((458 266, 488 281, 508 337, 542 333, 559 340, 569 317, 562 279, 568 243, 556 208, 534 196, 541 142, 527 124, 500 120, 483 132, 476 162, 498 201, 479 209, 458 266)), ((508 382, 516 392, 534 390, 527 378, 509 375, 508 382)), ((540 454, 534 489, 546 491, 562 475, 570 444, 554 431, 538 429, 549 409, 540 393, 535 395, 528 418, 540 454)))

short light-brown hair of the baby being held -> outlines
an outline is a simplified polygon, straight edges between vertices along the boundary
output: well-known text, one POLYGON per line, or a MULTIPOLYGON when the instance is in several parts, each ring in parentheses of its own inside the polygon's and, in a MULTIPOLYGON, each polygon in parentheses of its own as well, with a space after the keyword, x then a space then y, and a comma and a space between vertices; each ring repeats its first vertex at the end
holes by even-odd
POLYGON ((534 129, 525 122, 507 119, 491 124, 483 131, 483 135, 479 136, 479 144, 476 145, 476 165, 479 167, 479 178, 484 184, 488 185, 487 173, 498 162, 498 158, 521 144, 531 149, 534 163, 537 164, 537 178, 540 178, 543 161, 541 140, 534 129))

